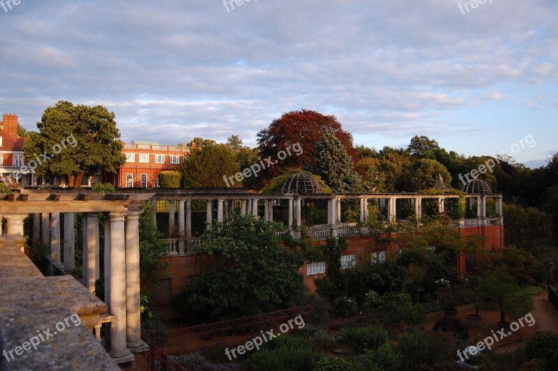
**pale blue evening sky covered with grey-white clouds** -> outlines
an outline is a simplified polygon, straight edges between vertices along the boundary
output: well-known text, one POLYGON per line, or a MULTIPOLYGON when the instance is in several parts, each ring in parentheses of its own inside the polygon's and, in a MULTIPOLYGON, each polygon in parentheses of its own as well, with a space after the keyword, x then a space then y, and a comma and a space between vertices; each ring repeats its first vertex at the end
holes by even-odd
POLYGON ((313 109, 376 149, 558 153, 556 0, 6 1, 0 111, 28 129, 69 100, 114 112, 125 142, 255 146, 313 109))

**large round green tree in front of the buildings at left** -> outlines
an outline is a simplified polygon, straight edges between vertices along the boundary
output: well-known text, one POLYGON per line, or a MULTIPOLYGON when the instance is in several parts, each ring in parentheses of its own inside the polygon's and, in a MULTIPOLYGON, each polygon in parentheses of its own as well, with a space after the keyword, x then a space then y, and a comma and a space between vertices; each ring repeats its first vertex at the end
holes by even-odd
POLYGON ((116 174, 126 162, 114 113, 100 105, 88 107, 61 100, 45 109, 29 132, 24 153, 37 176, 68 176, 70 187, 80 187, 83 176, 100 170, 116 174), (37 160, 40 154, 47 158, 37 160))

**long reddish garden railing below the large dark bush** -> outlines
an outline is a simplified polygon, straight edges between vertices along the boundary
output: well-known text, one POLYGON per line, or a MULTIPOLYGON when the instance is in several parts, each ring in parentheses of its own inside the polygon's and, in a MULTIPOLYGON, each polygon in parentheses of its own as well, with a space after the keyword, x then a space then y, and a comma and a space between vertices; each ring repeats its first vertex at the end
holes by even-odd
MULTIPOLYGON (((142 335, 148 344, 161 344, 166 353, 171 355, 193 353, 216 345, 223 349, 224 354, 226 347, 241 345, 256 333, 259 335, 262 331, 271 329, 278 333, 280 325, 289 320, 292 323, 292 319, 298 316, 302 317, 304 326, 311 326, 312 305, 171 331, 142 330, 142 335)), ((302 324, 295 321, 293 328, 289 327, 289 332, 298 329, 297 325, 302 324)))

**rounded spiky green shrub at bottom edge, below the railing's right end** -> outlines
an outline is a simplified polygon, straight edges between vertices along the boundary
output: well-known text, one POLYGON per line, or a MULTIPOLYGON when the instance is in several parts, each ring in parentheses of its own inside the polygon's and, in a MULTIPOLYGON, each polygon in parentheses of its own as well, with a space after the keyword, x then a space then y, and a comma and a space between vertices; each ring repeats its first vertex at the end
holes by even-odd
POLYGON ((298 336, 282 336, 266 342, 246 360, 248 371, 313 370, 322 354, 313 349, 309 340, 298 336))

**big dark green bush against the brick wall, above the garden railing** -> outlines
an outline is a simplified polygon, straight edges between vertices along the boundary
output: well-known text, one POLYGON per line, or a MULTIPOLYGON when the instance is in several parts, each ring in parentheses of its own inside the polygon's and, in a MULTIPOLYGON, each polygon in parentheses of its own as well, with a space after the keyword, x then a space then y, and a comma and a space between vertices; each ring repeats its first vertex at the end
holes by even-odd
POLYGON ((302 261, 280 245, 276 237, 280 230, 280 223, 239 213, 214 223, 196 251, 209 262, 208 268, 174 298, 176 307, 197 319, 285 308, 302 280, 298 271, 302 261))

